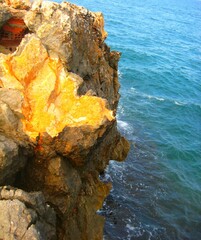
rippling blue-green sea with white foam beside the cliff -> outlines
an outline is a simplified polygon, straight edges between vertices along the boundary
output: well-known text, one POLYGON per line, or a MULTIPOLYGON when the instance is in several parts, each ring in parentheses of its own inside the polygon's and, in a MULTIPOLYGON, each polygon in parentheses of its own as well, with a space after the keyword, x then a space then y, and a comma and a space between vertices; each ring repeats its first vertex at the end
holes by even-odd
POLYGON ((101 11, 122 52, 119 131, 109 165, 105 240, 201 239, 201 1, 72 0, 101 11))

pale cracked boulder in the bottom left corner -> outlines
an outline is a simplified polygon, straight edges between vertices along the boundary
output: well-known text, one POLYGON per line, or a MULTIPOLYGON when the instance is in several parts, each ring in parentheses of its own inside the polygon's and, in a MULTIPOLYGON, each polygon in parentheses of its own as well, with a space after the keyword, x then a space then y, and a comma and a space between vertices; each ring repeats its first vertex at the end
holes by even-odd
POLYGON ((56 214, 41 192, 0 188, 0 239, 56 239, 56 214))

